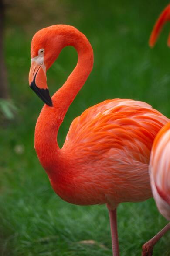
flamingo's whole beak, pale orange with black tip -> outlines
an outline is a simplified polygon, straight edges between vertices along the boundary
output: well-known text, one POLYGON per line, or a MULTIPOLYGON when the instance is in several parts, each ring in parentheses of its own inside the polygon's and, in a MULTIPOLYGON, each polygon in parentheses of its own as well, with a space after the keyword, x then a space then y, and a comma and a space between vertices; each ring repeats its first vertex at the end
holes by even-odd
POLYGON ((29 85, 41 100, 52 107, 52 100, 47 87, 47 77, 44 65, 31 61, 29 85))

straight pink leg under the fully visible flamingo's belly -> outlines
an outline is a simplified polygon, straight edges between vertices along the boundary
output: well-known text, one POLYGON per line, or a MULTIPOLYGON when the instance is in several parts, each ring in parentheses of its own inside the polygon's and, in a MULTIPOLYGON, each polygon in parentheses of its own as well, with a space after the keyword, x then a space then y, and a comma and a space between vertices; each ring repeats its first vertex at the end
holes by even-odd
POLYGON ((111 228, 111 235, 112 235, 112 252, 113 252, 113 256, 119 256, 116 209, 110 210, 108 207, 108 210, 109 210, 110 228, 111 228))

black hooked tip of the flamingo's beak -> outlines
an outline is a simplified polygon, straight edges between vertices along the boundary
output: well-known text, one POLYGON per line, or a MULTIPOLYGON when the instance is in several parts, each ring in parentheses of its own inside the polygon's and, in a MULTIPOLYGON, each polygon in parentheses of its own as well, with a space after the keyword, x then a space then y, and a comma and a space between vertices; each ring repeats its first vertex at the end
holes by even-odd
POLYGON ((31 82, 30 87, 45 104, 47 104, 50 107, 53 107, 53 103, 48 89, 38 88, 34 80, 31 82))

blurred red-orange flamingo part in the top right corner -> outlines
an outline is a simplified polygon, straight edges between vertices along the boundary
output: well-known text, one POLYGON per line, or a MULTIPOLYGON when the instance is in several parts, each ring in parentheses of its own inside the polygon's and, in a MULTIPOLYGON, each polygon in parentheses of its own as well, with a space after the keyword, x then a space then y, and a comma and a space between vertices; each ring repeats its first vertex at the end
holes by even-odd
MULTIPOLYGON (((156 40, 158 39, 158 36, 160 35, 160 32, 163 28, 163 25, 167 21, 170 21, 170 4, 163 10, 163 12, 160 14, 160 17, 156 21, 156 24, 154 25, 149 40, 150 47, 153 47, 155 45, 156 40)), ((168 37, 167 45, 170 47, 170 35, 168 37)))

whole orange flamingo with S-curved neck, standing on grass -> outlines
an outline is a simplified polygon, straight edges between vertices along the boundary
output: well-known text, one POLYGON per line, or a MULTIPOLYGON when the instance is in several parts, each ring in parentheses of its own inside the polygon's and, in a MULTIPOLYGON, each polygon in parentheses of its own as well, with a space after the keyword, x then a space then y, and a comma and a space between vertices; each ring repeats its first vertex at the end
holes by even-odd
POLYGON ((119 256, 116 208, 152 196, 150 151, 156 134, 170 119, 145 102, 108 99, 75 118, 59 148, 58 129, 92 67, 92 46, 75 27, 52 25, 33 36, 29 85, 46 103, 35 126, 34 147, 52 188, 63 200, 107 205, 112 252, 119 256), (51 98, 46 71, 65 46, 75 47, 78 63, 51 98))

